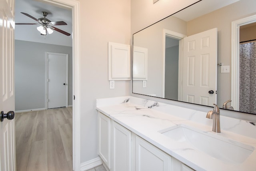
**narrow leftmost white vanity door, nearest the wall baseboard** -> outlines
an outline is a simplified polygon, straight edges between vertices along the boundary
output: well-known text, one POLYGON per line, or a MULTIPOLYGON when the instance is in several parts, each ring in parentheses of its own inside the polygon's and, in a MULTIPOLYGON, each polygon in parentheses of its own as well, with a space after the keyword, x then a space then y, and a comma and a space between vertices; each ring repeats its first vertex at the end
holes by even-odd
POLYGON ((98 112, 98 153, 110 169, 110 118, 98 112))

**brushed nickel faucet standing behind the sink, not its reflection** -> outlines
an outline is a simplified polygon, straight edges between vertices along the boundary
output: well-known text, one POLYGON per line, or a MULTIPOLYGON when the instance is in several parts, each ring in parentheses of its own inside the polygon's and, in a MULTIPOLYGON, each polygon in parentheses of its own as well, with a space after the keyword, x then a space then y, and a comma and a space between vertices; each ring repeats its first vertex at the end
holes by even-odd
POLYGON ((212 131, 220 132, 220 109, 218 105, 213 104, 214 109, 207 112, 206 117, 209 119, 213 119, 212 123, 212 131))

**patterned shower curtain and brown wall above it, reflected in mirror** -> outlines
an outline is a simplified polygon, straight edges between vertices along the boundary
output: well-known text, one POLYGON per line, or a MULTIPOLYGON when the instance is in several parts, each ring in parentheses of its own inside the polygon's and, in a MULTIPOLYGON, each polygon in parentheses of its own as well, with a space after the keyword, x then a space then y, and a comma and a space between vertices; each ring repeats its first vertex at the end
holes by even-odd
POLYGON ((256 23, 240 26, 239 110, 256 113, 256 23))

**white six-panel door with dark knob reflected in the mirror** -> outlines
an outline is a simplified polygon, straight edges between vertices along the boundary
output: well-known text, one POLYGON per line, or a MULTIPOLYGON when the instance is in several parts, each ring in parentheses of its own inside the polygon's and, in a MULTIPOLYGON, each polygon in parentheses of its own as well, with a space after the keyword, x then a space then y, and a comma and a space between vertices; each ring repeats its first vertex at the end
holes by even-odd
POLYGON ((217 102, 217 28, 184 38, 182 101, 217 102))

